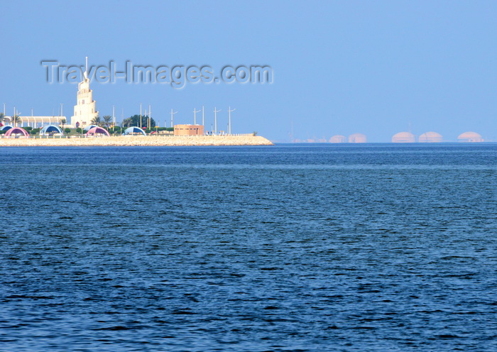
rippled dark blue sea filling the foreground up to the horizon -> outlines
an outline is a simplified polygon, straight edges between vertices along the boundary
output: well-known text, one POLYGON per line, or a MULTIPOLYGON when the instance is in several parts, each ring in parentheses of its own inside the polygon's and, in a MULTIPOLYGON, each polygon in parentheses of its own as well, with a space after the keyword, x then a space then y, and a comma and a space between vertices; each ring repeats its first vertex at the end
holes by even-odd
POLYGON ((497 145, 1 148, 0 351, 497 351, 497 145))

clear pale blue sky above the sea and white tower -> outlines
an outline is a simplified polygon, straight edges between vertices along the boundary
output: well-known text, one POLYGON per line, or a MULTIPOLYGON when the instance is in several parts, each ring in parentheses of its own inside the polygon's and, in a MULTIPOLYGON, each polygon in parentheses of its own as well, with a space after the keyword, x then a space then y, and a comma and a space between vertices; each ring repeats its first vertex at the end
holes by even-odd
POLYGON ((228 106, 234 133, 276 141, 399 131, 497 141, 496 1, 2 1, 0 104, 7 114, 72 115, 77 85, 48 84, 41 60, 66 65, 270 65, 272 84, 99 84, 100 115, 192 123, 228 106), (143 108, 145 109, 145 107, 143 108))

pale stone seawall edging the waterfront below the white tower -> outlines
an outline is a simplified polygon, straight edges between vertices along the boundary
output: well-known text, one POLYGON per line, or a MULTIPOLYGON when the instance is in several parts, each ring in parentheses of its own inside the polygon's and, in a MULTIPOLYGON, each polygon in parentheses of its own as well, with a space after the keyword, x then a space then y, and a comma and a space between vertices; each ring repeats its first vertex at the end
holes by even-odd
POLYGON ((97 138, 0 138, 0 147, 89 147, 160 145, 273 145, 261 136, 119 136, 97 138))

